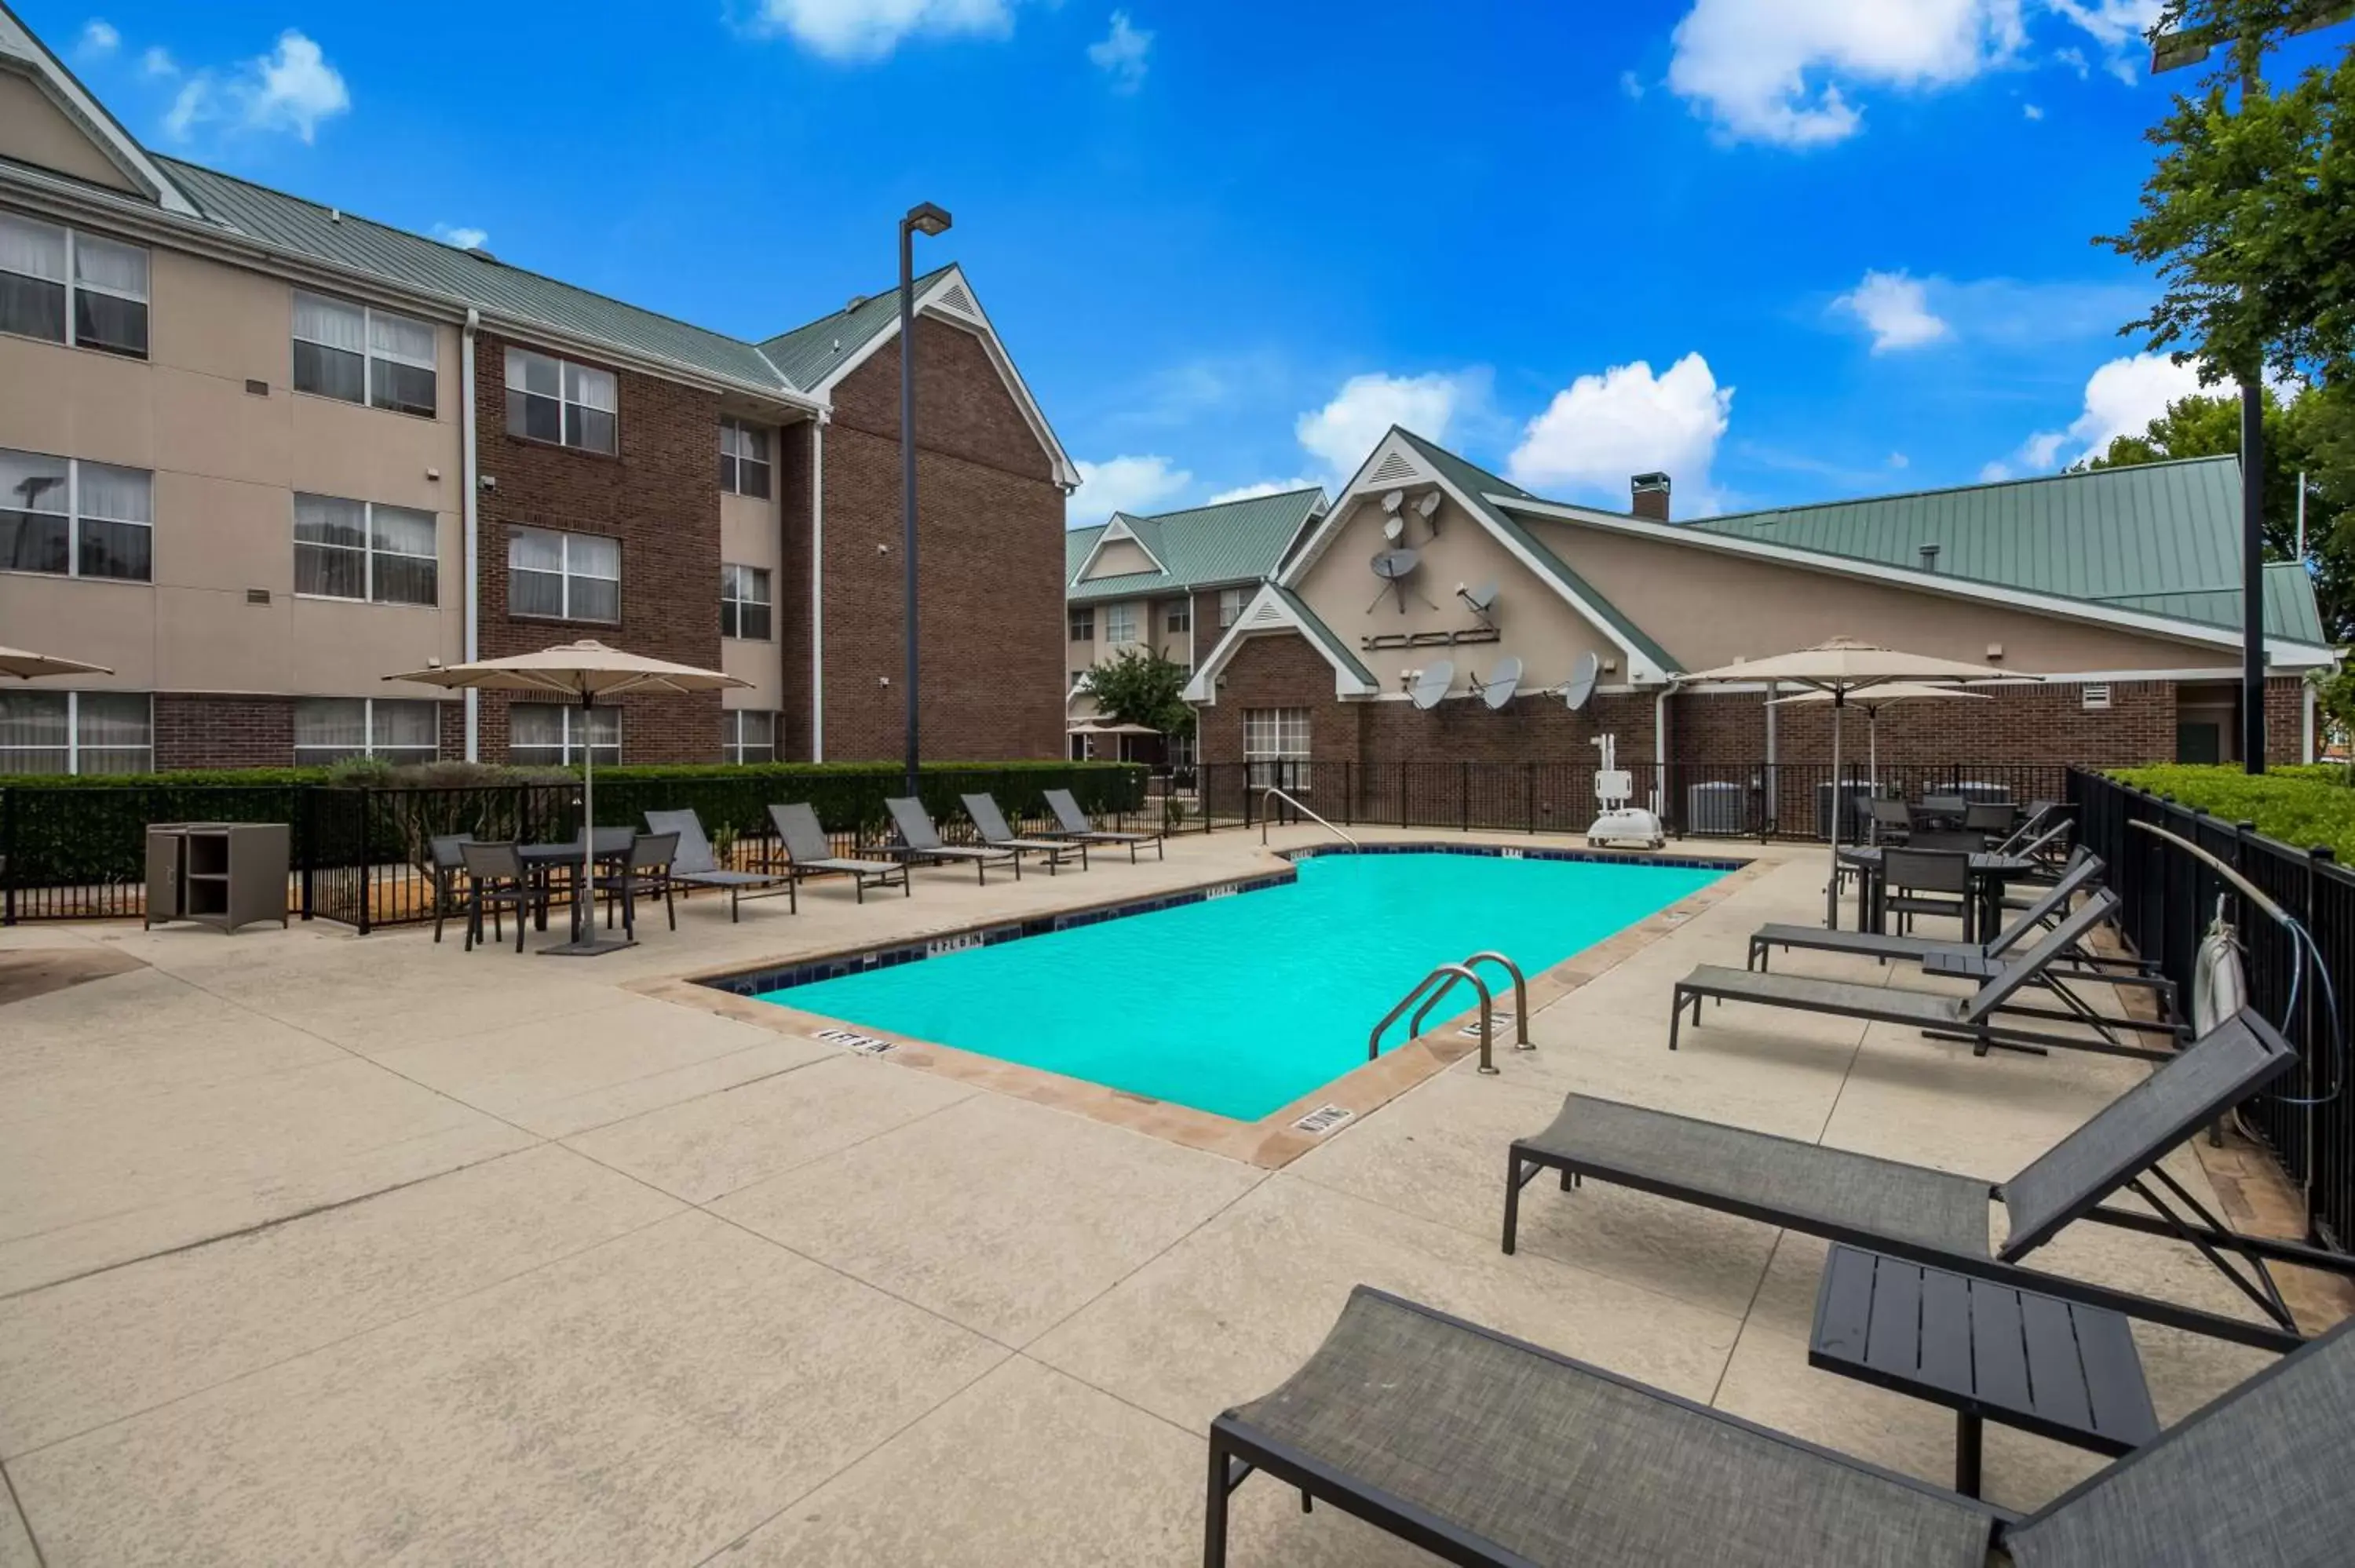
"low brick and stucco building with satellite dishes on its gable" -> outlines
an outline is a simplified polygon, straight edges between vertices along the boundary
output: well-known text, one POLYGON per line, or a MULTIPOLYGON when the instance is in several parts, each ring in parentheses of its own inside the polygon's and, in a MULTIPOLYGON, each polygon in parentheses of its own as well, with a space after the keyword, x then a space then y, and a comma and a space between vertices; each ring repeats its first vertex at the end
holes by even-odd
MULTIPOLYGON (((1309 782, 1319 763, 1375 786, 1439 760, 1590 768, 1604 732, 1637 768, 1820 768, 1827 709, 1679 676, 1856 636, 2039 676, 1893 704, 1884 770, 2233 760, 2237 582, 2233 457, 1677 523, 1667 476, 1637 476, 1627 513, 1568 506, 1394 428, 1203 652, 1187 699, 1203 763, 1293 763, 1309 782), (1491 706, 1507 659, 1519 683, 1491 706), (1422 709, 1408 687, 1441 662, 1446 697, 1422 709), (1580 666, 1597 683, 1573 711, 1580 666)), ((2303 676, 2334 659, 2303 567, 2266 567, 2266 624, 2268 753, 2303 760, 2303 676)))

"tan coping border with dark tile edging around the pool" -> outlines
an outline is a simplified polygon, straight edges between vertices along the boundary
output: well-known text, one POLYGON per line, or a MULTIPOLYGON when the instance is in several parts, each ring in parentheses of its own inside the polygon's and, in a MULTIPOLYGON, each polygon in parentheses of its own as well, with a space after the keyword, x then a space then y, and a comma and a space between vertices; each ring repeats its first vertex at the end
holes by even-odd
MULTIPOLYGON (((836 1045, 845 1052, 871 1055, 883 1062, 909 1067, 916 1071, 928 1071, 937 1078, 951 1078, 956 1083, 970 1083, 975 1088, 989 1088, 1001 1095, 1013 1095, 1017 1099, 1029 1099, 1034 1104, 1055 1107, 1072 1111, 1076 1116, 1088 1116, 1090 1121, 1102 1121, 1116 1128, 1128 1128, 1133 1132, 1145 1132, 1163 1142, 1182 1144, 1187 1149, 1201 1149, 1208 1154, 1222 1154, 1260 1170, 1281 1170, 1291 1161, 1300 1158, 1309 1149, 1316 1149, 1328 1137, 1354 1125, 1380 1107, 1389 1104, 1418 1083, 1446 1071, 1455 1062, 1479 1052, 1477 1036, 1465 1031, 1479 1019, 1479 1003, 1462 1008, 1453 1017, 1425 1029, 1411 1041, 1392 1045, 1380 1057, 1349 1069, 1340 1078, 1328 1078, 1307 1095, 1260 1116, 1255 1121, 1239 1121, 1234 1116, 1220 1116, 1215 1111, 1199 1111, 1194 1107, 1175 1104, 1168 1099, 1154 1099, 1149 1095, 1137 1095, 1133 1090, 1119 1090, 1104 1083, 1090 1083, 1086 1078, 1069 1078, 1064 1074, 1046 1071, 1041 1067, 1024 1067, 1020 1062, 1006 1062, 1003 1057, 987 1057, 970 1050, 958 1050, 956 1045, 942 1045, 937 1041, 923 1041, 916 1036, 902 1036, 888 1029, 869 1029, 862 1024, 850 1024, 845 1019, 827 1017, 822 1012, 805 1012, 780 1001, 758 1001, 754 986, 765 979, 780 979, 784 975, 796 975, 805 970, 845 965, 850 961, 867 961, 869 956, 893 954, 890 963, 914 963, 921 958, 940 956, 944 951, 956 951, 973 946, 975 939, 982 944, 1015 942, 1031 935, 1050 935, 1055 930, 1069 930, 1074 925, 1090 925, 1095 921, 1112 921, 1133 913, 1152 913, 1159 909, 1173 909, 1182 904, 1196 904, 1208 897, 1229 897, 1239 892, 1258 892, 1262 888, 1276 888, 1291 883, 1295 873, 1295 862, 1314 859, 1319 855, 1495 855, 1505 859, 1587 859, 1587 862, 1620 862, 1620 864, 1646 864, 1646 866, 1700 866, 1722 869, 1719 876, 1707 888, 1689 892, 1674 899, 1667 909, 1653 911, 1641 921, 1616 930, 1601 942, 1585 946, 1552 968, 1528 975, 1528 1012, 1538 1012, 1561 1001, 1571 991, 1580 989, 1590 979, 1604 975, 1618 963, 1627 961, 1637 951, 1651 946, 1660 937, 1681 930, 1705 909, 1722 904, 1733 897, 1740 888, 1757 881, 1771 862, 1757 857, 1736 855, 1637 855, 1616 850, 1578 850, 1578 848, 1552 848, 1552 845, 1517 845, 1517 843, 1488 843, 1488 841, 1401 841, 1401 843, 1366 843, 1366 845, 1300 845, 1293 850, 1272 850, 1269 859, 1281 862, 1255 876, 1215 876, 1187 888, 1175 888, 1147 897, 1107 899, 1100 904, 1081 904, 1074 909, 1060 909, 1041 916, 1020 916, 1010 921, 977 921, 963 928, 949 928, 937 932, 926 932, 904 942, 890 944, 864 944, 848 946, 831 954, 794 956, 780 958, 775 963, 761 965, 728 965, 725 970, 706 970, 695 975, 674 975, 664 979, 636 982, 629 989, 657 1001, 671 1001, 688 1008, 699 1008, 704 1012, 716 1012, 770 1034, 782 1034, 791 1038, 808 1038, 827 1045, 836 1045), (918 951, 921 949, 921 951, 918 951), (911 956, 909 956, 911 954, 911 956), (728 989, 728 984, 742 989, 728 989), (1300 1123, 1312 1123, 1302 1128, 1300 1123)), ((862 963, 860 968, 869 968, 862 963)), ((812 984, 824 975, 812 975, 805 979, 791 979, 789 984, 812 984)), ((780 989, 780 986, 761 986, 780 989)), ((1510 994, 1507 994, 1510 998, 1510 994)), ((1500 998, 1500 1012, 1510 1010, 1510 1001, 1500 998)), ((1493 1050, 1498 1055, 1514 1050, 1512 1029, 1502 1022, 1495 1029, 1493 1050)))

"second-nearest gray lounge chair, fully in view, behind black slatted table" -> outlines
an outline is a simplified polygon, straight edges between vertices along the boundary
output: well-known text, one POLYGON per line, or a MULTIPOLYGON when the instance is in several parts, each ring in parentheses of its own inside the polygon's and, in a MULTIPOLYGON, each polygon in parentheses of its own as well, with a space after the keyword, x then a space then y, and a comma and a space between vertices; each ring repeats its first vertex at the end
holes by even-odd
POLYGON ((1872 1253, 2108 1307, 2190 1333, 2291 1349, 2298 1344, 2296 1326, 2273 1288, 2268 1260, 2334 1274, 2355 1274, 2355 1260, 2225 1229, 2160 1161, 2287 1074, 2294 1062, 2296 1052, 2266 1019, 2237 1012, 2105 1104, 2016 1177, 1995 1184, 1929 1165, 1571 1095, 1552 1125, 1512 1142, 1505 1250, 1514 1250, 1521 1189, 1540 1170, 1559 1170, 1564 1191, 1580 1180, 1634 1187, 1804 1236, 1846 1241, 1872 1253), (2105 1203, 2122 1189, 2148 1203, 2148 1212, 2105 1203), (2004 1205, 2009 1222, 2004 1245, 1995 1250, 1988 1245, 1990 1201, 2004 1205), (2021 1267, 2023 1257, 2079 1220, 2200 1248, 2270 1323, 2225 1318, 2021 1267))

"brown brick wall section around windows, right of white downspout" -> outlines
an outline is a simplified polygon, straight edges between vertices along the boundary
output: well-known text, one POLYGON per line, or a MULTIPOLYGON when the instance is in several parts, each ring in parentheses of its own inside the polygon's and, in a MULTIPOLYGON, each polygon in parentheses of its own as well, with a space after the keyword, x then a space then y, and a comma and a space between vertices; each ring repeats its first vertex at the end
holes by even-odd
MULTIPOLYGON (((476 384, 483 492, 483 657, 596 638, 652 659, 699 669, 721 662, 718 398, 617 370, 619 452, 582 452, 525 440, 506 428, 506 344, 483 334, 476 384), (513 617, 506 603, 506 534, 553 527, 622 542, 622 622, 513 617)), ((582 360, 589 363, 589 360, 582 360)), ((506 758, 509 697, 483 695, 483 758, 506 758)), ((716 763, 718 692, 624 697, 626 763, 716 763)))

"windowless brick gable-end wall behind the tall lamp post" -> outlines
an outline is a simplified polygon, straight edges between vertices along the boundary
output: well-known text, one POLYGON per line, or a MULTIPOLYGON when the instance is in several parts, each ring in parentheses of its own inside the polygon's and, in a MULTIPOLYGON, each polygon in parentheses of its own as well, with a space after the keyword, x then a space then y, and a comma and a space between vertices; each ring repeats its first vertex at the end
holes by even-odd
MULTIPOLYGON (((923 756, 1062 756, 1062 492, 980 339, 933 320, 916 325, 916 431, 923 756)), ((907 709, 893 346, 836 386, 824 443, 827 758, 895 758, 907 709)))

